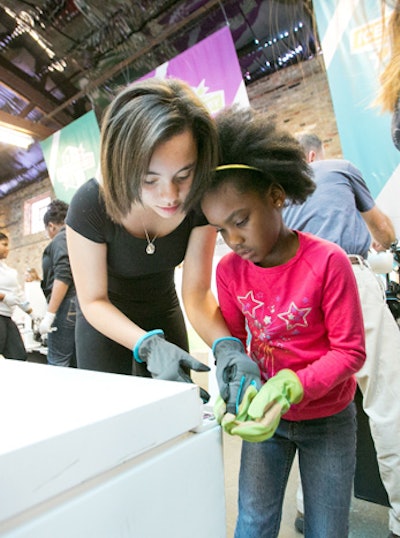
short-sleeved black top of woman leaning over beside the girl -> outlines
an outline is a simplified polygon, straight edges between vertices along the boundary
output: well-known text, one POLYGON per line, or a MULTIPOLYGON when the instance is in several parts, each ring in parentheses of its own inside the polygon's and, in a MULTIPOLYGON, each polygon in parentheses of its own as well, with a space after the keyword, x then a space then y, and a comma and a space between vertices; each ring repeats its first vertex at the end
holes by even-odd
POLYGON ((192 210, 175 230, 156 239, 154 254, 146 254, 146 239, 134 237, 107 215, 95 179, 75 193, 66 222, 87 239, 107 244, 108 292, 118 303, 127 295, 141 303, 162 301, 173 283, 175 267, 185 257, 192 229, 207 224, 200 211, 192 210))

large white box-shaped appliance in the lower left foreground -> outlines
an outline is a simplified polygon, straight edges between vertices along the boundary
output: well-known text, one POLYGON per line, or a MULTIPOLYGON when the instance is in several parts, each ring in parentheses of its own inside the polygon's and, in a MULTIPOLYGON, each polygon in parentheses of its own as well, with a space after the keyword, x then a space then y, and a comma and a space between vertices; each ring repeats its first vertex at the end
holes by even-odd
POLYGON ((202 415, 195 385, 0 359, 0 536, 225 538, 202 415))

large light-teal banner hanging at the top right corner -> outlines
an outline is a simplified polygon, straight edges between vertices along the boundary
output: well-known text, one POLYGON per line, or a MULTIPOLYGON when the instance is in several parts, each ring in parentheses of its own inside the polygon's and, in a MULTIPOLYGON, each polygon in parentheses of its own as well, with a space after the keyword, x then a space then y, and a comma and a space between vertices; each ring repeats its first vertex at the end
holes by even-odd
MULTIPOLYGON (((360 168, 400 236, 400 152, 391 139, 391 115, 373 105, 389 52, 381 2, 319 0, 314 10, 343 157, 360 168)), ((386 7, 385 21, 389 16, 386 7)))

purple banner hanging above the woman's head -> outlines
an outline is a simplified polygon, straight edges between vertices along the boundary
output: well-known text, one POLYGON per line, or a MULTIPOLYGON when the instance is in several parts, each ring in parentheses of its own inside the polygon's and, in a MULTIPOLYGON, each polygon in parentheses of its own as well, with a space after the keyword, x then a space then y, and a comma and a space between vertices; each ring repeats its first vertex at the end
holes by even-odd
POLYGON ((142 78, 185 80, 212 114, 233 103, 249 105, 235 45, 228 27, 203 39, 142 78))

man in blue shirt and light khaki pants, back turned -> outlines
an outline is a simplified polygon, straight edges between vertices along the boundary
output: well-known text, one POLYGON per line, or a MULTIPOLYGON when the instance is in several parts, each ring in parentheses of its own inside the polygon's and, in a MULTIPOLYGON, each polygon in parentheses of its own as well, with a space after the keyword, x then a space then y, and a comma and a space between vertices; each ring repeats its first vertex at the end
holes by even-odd
MULTIPOLYGON (((325 159, 314 133, 299 137, 317 188, 302 205, 288 205, 288 226, 340 245, 357 280, 365 326, 367 360, 357 372, 363 408, 369 417, 379 471, 391 505, 390 538, 400 536, 400 331, 386 304, 382 283, 367 257, 371 242, 388 249, 396 240, 393 224, 375 204, 358 170, 343 159, 325 159)), ((301 496, 296 528, 302 528, 301 496)))

